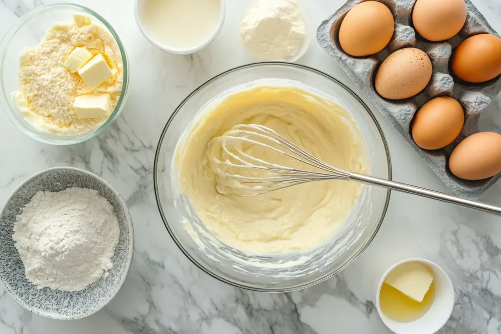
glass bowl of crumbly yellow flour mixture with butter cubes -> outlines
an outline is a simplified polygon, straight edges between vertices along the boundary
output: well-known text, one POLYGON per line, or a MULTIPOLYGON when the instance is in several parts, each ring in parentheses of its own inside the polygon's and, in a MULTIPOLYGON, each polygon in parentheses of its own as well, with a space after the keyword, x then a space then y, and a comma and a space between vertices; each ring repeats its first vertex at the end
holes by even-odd
POLYGON ((128 70, 120 38, 99 14, 44 5, 21 17, 0 43, 0 106, 40 142, 80 143, 120 114, 128 70))

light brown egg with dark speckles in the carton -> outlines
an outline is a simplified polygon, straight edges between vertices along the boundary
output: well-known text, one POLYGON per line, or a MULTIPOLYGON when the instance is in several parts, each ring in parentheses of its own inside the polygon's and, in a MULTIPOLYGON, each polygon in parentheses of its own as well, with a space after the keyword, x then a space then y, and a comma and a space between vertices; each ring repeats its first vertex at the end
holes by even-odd
POLYGON ((386 58, 376 74, 376 91, 390 100, 407 99, 421 92, 431 78, 431 61, 416 48, 400 49, 386 58))

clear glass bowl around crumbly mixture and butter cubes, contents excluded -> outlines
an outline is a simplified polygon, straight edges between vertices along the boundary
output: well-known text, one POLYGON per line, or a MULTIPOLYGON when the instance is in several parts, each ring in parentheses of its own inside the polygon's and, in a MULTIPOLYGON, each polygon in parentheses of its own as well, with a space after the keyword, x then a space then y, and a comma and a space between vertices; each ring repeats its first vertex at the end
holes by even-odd
POLYGON ((118 116, 125 104, 129 83, 129 65, 125 49, 115 30, 96 12, 74 4, 44 5, 21 17, 0 42, 0 106, 9 119, 28 136, 48 144, 70 145, 86 141, 101 133, 118 116), (45 36, 47 30, 57 22, 73 22, 73 15, 85 15, 95 24, 101 24, 115 38, 123 62, 122 92, 117 106, 110 117, 98 128, 79 135, 57 135, 41 131, 27 122, 11 98, 19 89, 19 57, 26 47, 35 47, 45 36))

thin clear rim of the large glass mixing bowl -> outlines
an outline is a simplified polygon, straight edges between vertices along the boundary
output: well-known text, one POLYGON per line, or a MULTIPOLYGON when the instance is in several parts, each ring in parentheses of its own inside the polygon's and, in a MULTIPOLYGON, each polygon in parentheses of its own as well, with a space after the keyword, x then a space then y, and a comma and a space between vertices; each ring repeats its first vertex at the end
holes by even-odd
POLYGON ((172 240, 174 240, 175 244, 181 250, 181 252, 193 264, 195 264, 198 268, 200 268, 202 271, 204 271, 205 273, 209 274, 210 276, 216 278, 217 280, 219 280, 221 282, 224 282, 226 284, 232 285, 234 287, 238 287, 238 288, 242 288, 242 289, 246 289, 246 290, 251 290, 251 291, 260 291, 260 292, 290 292, 290 291, 300 290, 300 289, 303 289, 303 288, 307 288, 307 287, 316 285, 318 283, 321 283, 321 282, 323 282, 323 281, 331 278, 332 276, 336 275, 337 273, 339 273, 343 269, 345 269, 348 265, 350 265, 353 261, 355 261, 355 259, 357 259, 360 256, 360 254, 362 254, 362 252, 372 242, 372 240, 376 236, 377 232, 379 231, 379 228, 381 227, 381 224, 382 224, 382 222, 384 220, 384 217, 386 215, 386 212, 388 210, 388 204, 389 204, 390 195, 391 195, 391 190, 390 189, 386 190, 385 200, 384 200, 383 206, 381 208, 381 211, 379 213, 379 217, 377 218, 376 226, 372 229, 370 236, 354 252, 354 255, 352 257, 350 257, 348 259, 348 261, 346 261, 343 265, 341 265, 336 270, 332 270, 331 272, 323 275, 320 278, 317 278, 314 281, 310 281, 308 283, 301 284, 301 285, 295 285, 295 286, 285 287, 285 288, 277 288, 277 287, 262 288, 262 287, 257 287, 257 286, 243 285, 243 284, 240 284, 238 282, 234 282, 234 281, 228 280, 228 279, 226 279, 224 277, 221 277, 221 276, 213 273, 209 268, 206 268, 202 264, 198 263, 191 256, 191 254, 183 247, 183 245, 179 242, 179 240, 176 238, 175 234, 171 230, 169 222, 167 221, 167 218, 165 217, 164 211, 162 209, 162 205, 160 203, 160 196, 159 196, 159 192, 158 192, 157 171, 158 171, 158 161, 159 161, 159 155, 160 155, 160 147, 162 146, 163 139, 165 138, 165 134, 167 133, 167 129, 169 128, 170 123, 175 118, 175 116, 177 115, 177 113, 179 112, 179 110, 184 106, 184 104, 193 95, 195 95, 196 93, 198 93, 198 91, 200 91, 202 88, 204 88, 205 86, 211 84, 212 82, 216 81, 217 79, 219 79, 221 77, 224 77, 224 76, 226 76, 228 74, 231 74, 233 72, 237 72, 237 71, 240 71, 240 70, 243 70, 243 69, 254 68, 254 67, 267 67, 267 66, 270 66, 270 65, 272 65, 272 66, 291 67, 291 68, 302 69, 302 70, 307 70, 309 72, 313 72, 315 74, 323 76, 326 79, 329 79, 329 80, 333 81, 335 84, 339 85, 341 88, 343 88, 344 90, 346 90, 350 95, 352 95, 361 104, 361 106, 365 109, 365 111, 369 114, 369 116, 370 116, 370 118, 371 118, 371 120, 372 120, 372 122, 373 122, 373 124, 374 124, 374 126, 376 128, 376 130, 378 131, 378 133, 380 135, 380 138, 381 138, 381 141, 383 143, 384 150, 385 150, 385 153, 386 153, 386 162, 387 162, 387 168, 388 168, 388 180, 392 179, 392 165, 391 165, 390 151, 389 151, 389 148, 388 148, 388 142, 387 142, 386 137, 385 137, 385 135, 383 133, 381 125, 379 124, 379 122, 377 121, 376 117, 374 116, 374 113, 369 109, 369 107, 365 104, 365 102, 362 101, 362 99, 355 92, 353 92, 348 86, 346 86, 345 84, 343 84, 339 80, 335 79, 334 77, 331 77, 330 75, 328 75, 328 74, 326 74, 326 73, 324 73, 322 71, 316 70, 316 69, 311 68, 311 67, 306 66, 306 65, 299 65, 299 64, 287 63, 287 62, 259 62, 259 63, 252 63, 252 64, 246 64, 246 65, 238 66, 238 67, 229 69, 227 71, 224 71, 224 72, 216 75, 215 77, 207 80, 206 82, 204 82, 203 84, 201 84, 200 86, 198 86, 196 89, 194 89, 193 92, 191 92, 176 107, 176 109, 174 110, 174 112, 172 113, 172 115, 167 120, 167 123, 165 124, 164 129, 162 130, 162 133, 161 133, 160 138, 158 140, 157 148, 155 150, 155 160, 154 160, 154 164, 153 164, 153 188, 154 188, 154 191, 155 191, 155 200, 156 200, 156 203, 157 203, 158 211, 160 212, 160 216, 162 218, 163 224, 165 225, 165 228, 167 229, 167 231, 169 232, 172 240))

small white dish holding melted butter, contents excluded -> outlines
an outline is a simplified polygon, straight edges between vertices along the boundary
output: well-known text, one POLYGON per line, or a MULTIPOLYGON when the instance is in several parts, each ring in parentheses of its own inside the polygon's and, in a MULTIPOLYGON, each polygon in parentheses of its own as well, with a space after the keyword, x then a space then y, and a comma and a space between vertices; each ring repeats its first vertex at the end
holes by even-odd
POLYGON ((376 290, 376 309, 383 320, 383 323, 396 334, 433 334, 436 333, 449 319, 454 307, 454 287, 449 276, 438 264, 422 258, 410 258, 392 265, 381 278, 376 290), (399 322, 387 317, 381 310, 379 303, 379 292, 386 276, 396 267, 406 262, 420 262, 431 268, 433 271, 433 282, 435 286, 435 298, 430 309, 420 318, 399 322))

